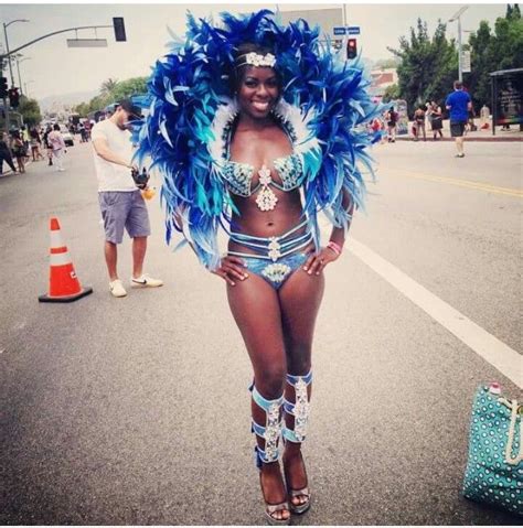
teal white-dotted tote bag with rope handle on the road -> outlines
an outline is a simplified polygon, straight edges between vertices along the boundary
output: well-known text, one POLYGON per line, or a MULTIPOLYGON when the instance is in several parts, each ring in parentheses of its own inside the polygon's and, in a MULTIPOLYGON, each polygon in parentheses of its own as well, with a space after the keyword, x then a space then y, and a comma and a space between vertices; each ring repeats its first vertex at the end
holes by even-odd
POLYGON ((463 495, 523 516, 523 405, 499 394, 498 384, 476 392, 463 495))

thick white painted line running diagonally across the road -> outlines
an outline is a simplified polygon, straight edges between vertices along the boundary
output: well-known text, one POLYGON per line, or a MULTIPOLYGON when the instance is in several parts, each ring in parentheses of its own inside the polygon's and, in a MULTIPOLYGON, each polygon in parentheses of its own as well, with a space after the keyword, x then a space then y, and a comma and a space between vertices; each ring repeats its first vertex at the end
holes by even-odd
POLYGON ((445 328, 472 348, 478 355, 495 367, 503 376, 523 388, 523 357, 513 348, 489 334, 481 326, 465 316, 421 284, 380 257, 372 249, 350 238, 349 250, 366 263, 378 276, 424 310, 445 328))

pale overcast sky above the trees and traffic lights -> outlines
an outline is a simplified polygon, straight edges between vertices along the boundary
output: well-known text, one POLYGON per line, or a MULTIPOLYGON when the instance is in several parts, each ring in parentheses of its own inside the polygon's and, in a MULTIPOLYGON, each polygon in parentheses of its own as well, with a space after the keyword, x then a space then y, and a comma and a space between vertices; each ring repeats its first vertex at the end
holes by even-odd
MULTIPOLYGON (((130 77, 147 76, 154 61, 162 56, 170 40, 168 26, 177 34, 184 33, 185 12, 190 9, 196 17, 216 17, 221 11, 246 12, 262 8, 280 11, 297 9, 337 8, 341 3, 318 4, 305 1, 293 3, 106 3, 106 4, 51 4, 12 3, 1 4, 0 21, 9 23, 17 19, 29 22, 15 22, 8 28, 9 47, 14 50, 46 33, 82 25, 110 25, 113 17, 124 17, 127 42, 115 42, 113 29, 79 31, 83 39, 106 37, 107 47, 70 49, 66 39, 74 39, 75 32, 63 33, 42 40, 20 53, 29 60, 19 64, 22 89, 26 87, 30 97, 42 99, 78 91, 96 90, 107 78, 125 80, 130 77)), ((372 61, 391 58, 387 46, 397 47, 398 39, 409 34, 409 28, 420 17, 428 24, 429 34, 438 19, 448 21, 460 7, 468 6, 461 17, 463 42, 466 31, 477 30, 481 20, 489 21, 493 28, 498 17, 503 17, 506 3, 353 3, 346 4, 349 25, 359 25, 361 35, 359 46, 363 56, 372 61)), ((447 24, 447 35, 457 36, 457 22, 447 24)), ((2 40, 2 45, 4 42, 2 40)), ((18 86, 18 72, 14 67, 18 86)), ((4 71, 6 75, 6 71, 4 71)), ((9 77, 9 75, 7 75, 9 77)))

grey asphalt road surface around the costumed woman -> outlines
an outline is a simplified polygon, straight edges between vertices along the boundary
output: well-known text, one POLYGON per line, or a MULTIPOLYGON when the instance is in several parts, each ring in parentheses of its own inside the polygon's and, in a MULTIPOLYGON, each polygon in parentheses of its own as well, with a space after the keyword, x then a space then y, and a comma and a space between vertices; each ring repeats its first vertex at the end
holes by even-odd
MULTIPOLYGON (((521 143, 466 152, 377 147, 351 236, 521 352, 521 143)), ((166 285, 113 299, 90 155, 77 143, 66 172, 0 179, 0 521, 260 524, 250 368, 224 283, 164 245, 154 198, 147 269, 166 285), (72 304, 38 302, 52 215, 94 288, 72 304)), ((119 268, 130 276, 128 239, 119 268)), ((351 251, 327 276, 305 446, 314 504, 293 524, 519 524, 460 487, 477 386, 520 389, 351 251)))

